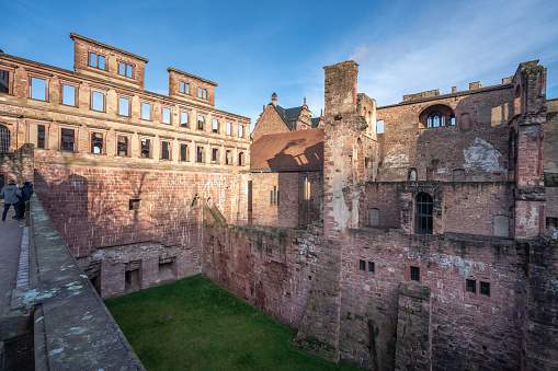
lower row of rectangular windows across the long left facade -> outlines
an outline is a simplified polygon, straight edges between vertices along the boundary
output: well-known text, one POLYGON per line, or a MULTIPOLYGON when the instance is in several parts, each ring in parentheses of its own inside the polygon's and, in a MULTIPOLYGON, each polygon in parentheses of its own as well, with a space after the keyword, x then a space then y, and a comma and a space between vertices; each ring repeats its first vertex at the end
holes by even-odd
MULTIPOLYGON (((0 126, 0 135, 2 135, 4 131, 9 135, 9 129, 4 126, 0 126)), ((37 148, 46 148, 46 128, 45 125, 36 125, 36 141, 35 142, 37 148)), ((9 137, 8 137, 9 138, 9 137)), ((130 140, 132 137, 129 135, 116 135, 116 155, 124 155, 128 156, 130 155, 130 140)), ((4 142, 3 140, 1 141, 4 142)), ((7 141, 9 143, 9 139, 7 141)), ((152 158, 152 143, 153 139, 151 138, 139 138, 139 149, 140 149, 140 156, 151 159, 152 158)), ((89 138, 89 151, 90 153, 95 154, 106 154, 106 137, 105 132, 102 131, 91 131, 90 138, 89 138)), ((9 147, 9 144, 8 144, 9 147)), ((190 160, 190 148, 194 147, 192 144, 187 143, 180 143, 180 152, 179 152, 179 159, 180 161, 191 161, 190 160)), ((59 149, 62 151, 73 151, 76 152, 77 149, 77 129, 72 128, 60 128, 60 141, 59 141, 59 149)), ((206 162, 205 152, 206 152, 206 146, 197 144, 195 146, 196 149, 196 162, 206 162)), ((172 160, 171 153, 172 153, 172 141, 170 140, 161 140, 160 141, 160 159, 161 160, 172 160)), ((220 163, 220 149, 219 148, 212 148, 212 163, 220 163)), ((244 165, 246 159, 244 159, 244 152, 239 151, 238 152, 238 165, 244 165)), ((226 165, 232 165, 232 150, 225 150, 225 159, 224 163, 226 165)))

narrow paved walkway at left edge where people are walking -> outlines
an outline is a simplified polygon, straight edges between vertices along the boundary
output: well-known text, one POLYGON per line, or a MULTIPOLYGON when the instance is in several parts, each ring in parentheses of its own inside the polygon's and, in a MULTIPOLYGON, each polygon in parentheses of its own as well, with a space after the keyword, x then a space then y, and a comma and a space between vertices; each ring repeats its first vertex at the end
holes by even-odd
MULTIPOLYGON (((3 202, 0 202, 0 210, 3 211, 3 202)), ((0 222, 0 309, 3 309, 5 293, 15 288, 22 236, 26 230, 23 220, 12 219, 14 215, 13 208, 10 208, 5 222, 0 222)), ((22 262, 23 265, 25 263, 22 262)), ((20 285, 25 285, 25 278, 22 279, 20 285)))

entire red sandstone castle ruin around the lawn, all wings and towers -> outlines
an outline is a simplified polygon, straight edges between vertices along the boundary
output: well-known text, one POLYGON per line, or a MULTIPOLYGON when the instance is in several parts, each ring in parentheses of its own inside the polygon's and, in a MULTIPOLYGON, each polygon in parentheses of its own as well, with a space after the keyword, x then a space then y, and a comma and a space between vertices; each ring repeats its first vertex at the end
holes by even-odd
POLYGON ((146 92, 147 59, 71 37, 75 72, 0 54, 0 181, 33 179, 103 298, 202 273, 332 362, 558 369, 538 61, 383 107, 354 61, 327 66, 319 127, 274 94, 250 142, 214 82, 169 68, 169 96, 146 92))

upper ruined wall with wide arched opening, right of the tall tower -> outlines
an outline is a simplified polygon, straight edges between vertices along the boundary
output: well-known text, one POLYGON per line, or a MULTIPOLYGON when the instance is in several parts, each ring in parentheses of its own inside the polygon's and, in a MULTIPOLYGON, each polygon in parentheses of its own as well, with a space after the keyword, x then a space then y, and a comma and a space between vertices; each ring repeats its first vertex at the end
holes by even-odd
POLYGON ((380 178, 405 181, 415 167, 420 181, 452 181, 454 170, 465 170, 467 181, 506 181, 513 114, 511 88, 378 107, 377 119, 385 121, 380 178), (435 104, 453 109, 455 126, 446 118, 445 127, 423 127, 419 115, 435 104))

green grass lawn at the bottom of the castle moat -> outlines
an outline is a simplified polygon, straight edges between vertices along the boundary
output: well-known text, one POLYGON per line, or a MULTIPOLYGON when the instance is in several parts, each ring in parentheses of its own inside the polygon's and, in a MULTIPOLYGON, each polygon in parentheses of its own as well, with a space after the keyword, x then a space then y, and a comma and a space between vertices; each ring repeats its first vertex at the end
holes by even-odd
POLYGON ((294 329, 203 276, 105 304, 148 370, 357 370, 293 347, 294 329))

